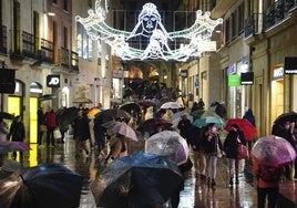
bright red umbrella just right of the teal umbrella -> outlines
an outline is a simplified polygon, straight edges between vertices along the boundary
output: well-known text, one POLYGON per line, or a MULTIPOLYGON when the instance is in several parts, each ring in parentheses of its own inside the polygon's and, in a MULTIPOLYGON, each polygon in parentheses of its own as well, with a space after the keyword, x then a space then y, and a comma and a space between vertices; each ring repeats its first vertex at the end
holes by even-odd
POLYGON ((255 128, 255 126, 253 126, 247 119, 243 119, 243 118, 229 118, 227 124, 226 124, 226 127, 225 129, 227 132, 231 131, 231 126, 233 124, 237 124, 238 127, 239 127, 239 131, 242 131, 245 135, 245 139, 246 141, 253 141, 256 133, 257 133, 257 129, 255 128))

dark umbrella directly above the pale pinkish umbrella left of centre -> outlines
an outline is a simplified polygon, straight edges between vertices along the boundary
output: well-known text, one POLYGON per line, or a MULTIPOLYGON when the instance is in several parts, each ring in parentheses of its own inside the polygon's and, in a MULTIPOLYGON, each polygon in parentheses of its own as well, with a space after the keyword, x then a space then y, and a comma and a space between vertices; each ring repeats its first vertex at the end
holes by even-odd
POLYGON ((111 122, 111 121, 115 121, 119 117, 130 119, 131 115, 123 110, 110 108, 110 110, 100 112, 99 114, 95 115, 95 117, 102 122, 111 122))

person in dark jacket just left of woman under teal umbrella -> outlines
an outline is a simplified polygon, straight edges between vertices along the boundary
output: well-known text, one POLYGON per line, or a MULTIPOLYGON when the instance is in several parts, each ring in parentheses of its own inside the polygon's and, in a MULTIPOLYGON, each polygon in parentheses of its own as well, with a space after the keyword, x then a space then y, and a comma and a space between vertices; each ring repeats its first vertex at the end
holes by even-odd
POLYGON ((194 153, 195 176, 201 179, 206 179, 206 158, 202 146, 204 133, 204 127, 192 126, 190 131, 190 145, 194 153))

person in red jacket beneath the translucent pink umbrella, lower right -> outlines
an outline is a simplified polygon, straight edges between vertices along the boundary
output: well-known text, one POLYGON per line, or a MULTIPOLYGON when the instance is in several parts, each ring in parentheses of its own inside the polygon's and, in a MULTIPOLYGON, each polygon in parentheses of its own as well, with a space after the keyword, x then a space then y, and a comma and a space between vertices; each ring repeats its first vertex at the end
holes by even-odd
POLYGON ((253 162, 253 175, 257 179, 257 201, 258 208, 265 208, 266 197, 268 208, 275 208, 279 194, 280 176, 285 173, 284 167, 275 168, 260 165, 257 160, 253 162), (266 171, 265 168, 272 168, 266 171), (273 170, 274 168, 274 170, 273 170), (267 176, 266 176, 267 175, 267 176))

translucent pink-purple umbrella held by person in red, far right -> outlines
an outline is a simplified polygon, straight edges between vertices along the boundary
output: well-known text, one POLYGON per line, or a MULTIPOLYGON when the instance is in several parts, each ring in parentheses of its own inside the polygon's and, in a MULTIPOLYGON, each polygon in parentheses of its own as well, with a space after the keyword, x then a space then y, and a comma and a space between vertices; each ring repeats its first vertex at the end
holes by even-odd
POLYGON ((285 138, 269 135, 260 137, 252 147, 250 155, 262 165, 280 167, 296 158, 296 152, 285 138))

